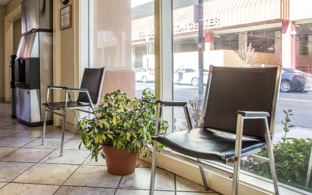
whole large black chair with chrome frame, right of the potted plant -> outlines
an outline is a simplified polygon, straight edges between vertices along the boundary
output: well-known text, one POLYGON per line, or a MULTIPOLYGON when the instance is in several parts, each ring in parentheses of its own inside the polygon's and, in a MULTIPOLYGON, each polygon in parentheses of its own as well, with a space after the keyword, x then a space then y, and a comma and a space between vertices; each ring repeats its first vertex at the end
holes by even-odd
POLYGON ((242 68, 211 65, 201 123, 195 129, 186 102, 158 101, 150 195, 154 195, 157 151, 199 166, 206 190, 208 184, 203 168, 233 178, 232 195, 238 194, 242 157, 250 156, 269 162, 275 195, 279 195, 272 136, 280 75, 281 66, 242 68), (163 106, 182 106, 189 130, 158 136, 163 106), (236 138, 225 137, 220 133, 234 134, 236 138), (158 148, 158 143, 182 155, 158 148), (268 151, 269 158, 254 156, 263 150, 268 151), (234 162, 234 171, 220 169, 212 163, 204 163, 202 159, 225 164, 234 162))

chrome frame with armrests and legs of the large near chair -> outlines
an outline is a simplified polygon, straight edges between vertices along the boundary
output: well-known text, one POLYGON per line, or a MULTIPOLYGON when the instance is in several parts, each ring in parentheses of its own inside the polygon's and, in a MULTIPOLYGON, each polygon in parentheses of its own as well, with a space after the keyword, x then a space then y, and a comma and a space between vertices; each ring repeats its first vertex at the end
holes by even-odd
MULTIPOLYGON (((213 69, 213 66, 210 65, 208 82, 207 82, 207 87, 206 87, 206 94, 205 94, 204 105, 203 105, 203 112, 201 115, 200 125, 198 128, 203 127, 203 121, 204 121, 205 110, 206 110, 206 102, 207 102, 207 99, 209 97, 209 88, 210 88, 210 82, 211 82, 212 69, 213 69)), ((224 161, 221 161, 224 164, 226 164, 228 162, 234 162, 233 171, 229 171, 227 169, 220 168, 219 166, 212 164, 212 163, 206 164, 201 159, 198 159, 198 158, 197 158, 197 160, 194 160, 191 157, 182 156, 182 155, 176 154, 174 152, 158 148, 158 143, 156 140, 154 140, 149 195, 154 195, 157 152, 163 153, 167 156, 175 157, 177 159, 180 159, 180 160, 186 161, 190 164, 193 164, 195 166, 198 166, 202 180, 203 180, 203 185, 205 187, 205 190, 209 190, 209 187, 208 187, 208 183, 206 180, 204 168, 207 170, 210 170, 212 172, 215 172, 217 174, 220 174, 222 176, 227 176, 229 178, 232 178, 233 179, 232 180, 232 195, 238 195, 240 159, 242 157, 249 156, 249 157, 252 157, 256 160, 268 162, 270 164, 270 169, 271 169, 271 173, 272 173, 274 193, 275 193, 275 195, 280 195, 279 186, 278 186, 278 182, 277 182, 277 174, 276 174, 276 169, 275 169, 275 161, 274 161, 274 156, 273 156, 272 140, 273 140, 274 127, 275 127, 276 105, 277 105, 278 96, 279 96, 281 69, 282 69, 282 67, 279 65, 277 68, 277 75, 276 75, 275 86, 274 86, 271 115, 267 112, 248 112, 248 111, 238 111, 237 112, 235 154, 234 154, 234 157, 231 157, 231 158, 225 159, 224 161), (271 116, 270 128, 269 128, 268 119, 267 119, 268 116, 271 116), (265 141, 266 141, 266 146, 259 148, 259 149, 256 149, 256 150, 253 150, 253 151, 250 151, 250 152, 245 153, 245 154, 241 154, 241 144, 242 144, 242 137, 243 137, 244 120, 248 120, 248 119, 262 119, 262 124, 263 124, 264 131, 265 131, 264 137, 265 137, 265 141), (261 152, 263 150, 268 151, 269 158, 254 155, 255 153, 261 152)), ((187 124, 188 124, 188 128, 189 128, 189 130, 193 129, 191 118, 190 118, 189 111, 187 108, 187 102, 160 101, 159 100, 159 101, 157 101, 157 103, 158 104, 157 104, 155 136, 158 136, 158 134, 160 132, 162 107, 164 107, 164 106, 183 107, 184 113, 186 116, 186 120, 187 120, 187 124)))

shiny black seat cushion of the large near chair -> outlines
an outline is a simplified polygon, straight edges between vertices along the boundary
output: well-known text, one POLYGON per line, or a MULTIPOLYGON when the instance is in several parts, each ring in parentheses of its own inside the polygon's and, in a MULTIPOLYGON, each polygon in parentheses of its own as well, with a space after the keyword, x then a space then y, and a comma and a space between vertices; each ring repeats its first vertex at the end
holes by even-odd
MULTIPOLYGON (((153 139, 183 155, 223 163, 235 153, 235 137, 225 137, 203 128, 179 131, 153 137, 153 139)), ((266 143, 263 141, 243 139, 241 154, 265 146, 266 143)))

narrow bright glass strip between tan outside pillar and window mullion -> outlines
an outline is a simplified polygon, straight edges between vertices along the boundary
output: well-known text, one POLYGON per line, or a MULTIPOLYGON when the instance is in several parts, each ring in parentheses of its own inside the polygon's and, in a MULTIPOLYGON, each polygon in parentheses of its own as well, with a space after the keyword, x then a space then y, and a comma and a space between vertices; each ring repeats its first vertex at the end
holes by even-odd
POLYGON ((136 97, 150 88, 155 94, 154 0, 131 0, 132 69, 136 72, 136 97))

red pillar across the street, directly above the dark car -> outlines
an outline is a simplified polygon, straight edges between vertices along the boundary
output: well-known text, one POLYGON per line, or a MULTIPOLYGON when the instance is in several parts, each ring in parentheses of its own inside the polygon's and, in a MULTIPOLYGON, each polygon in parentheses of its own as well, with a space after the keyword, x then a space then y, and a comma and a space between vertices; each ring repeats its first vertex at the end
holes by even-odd
POLYGON ((288 68, 296 66, 296 35, 295 22, 282 22, 282 65, 288 68))

